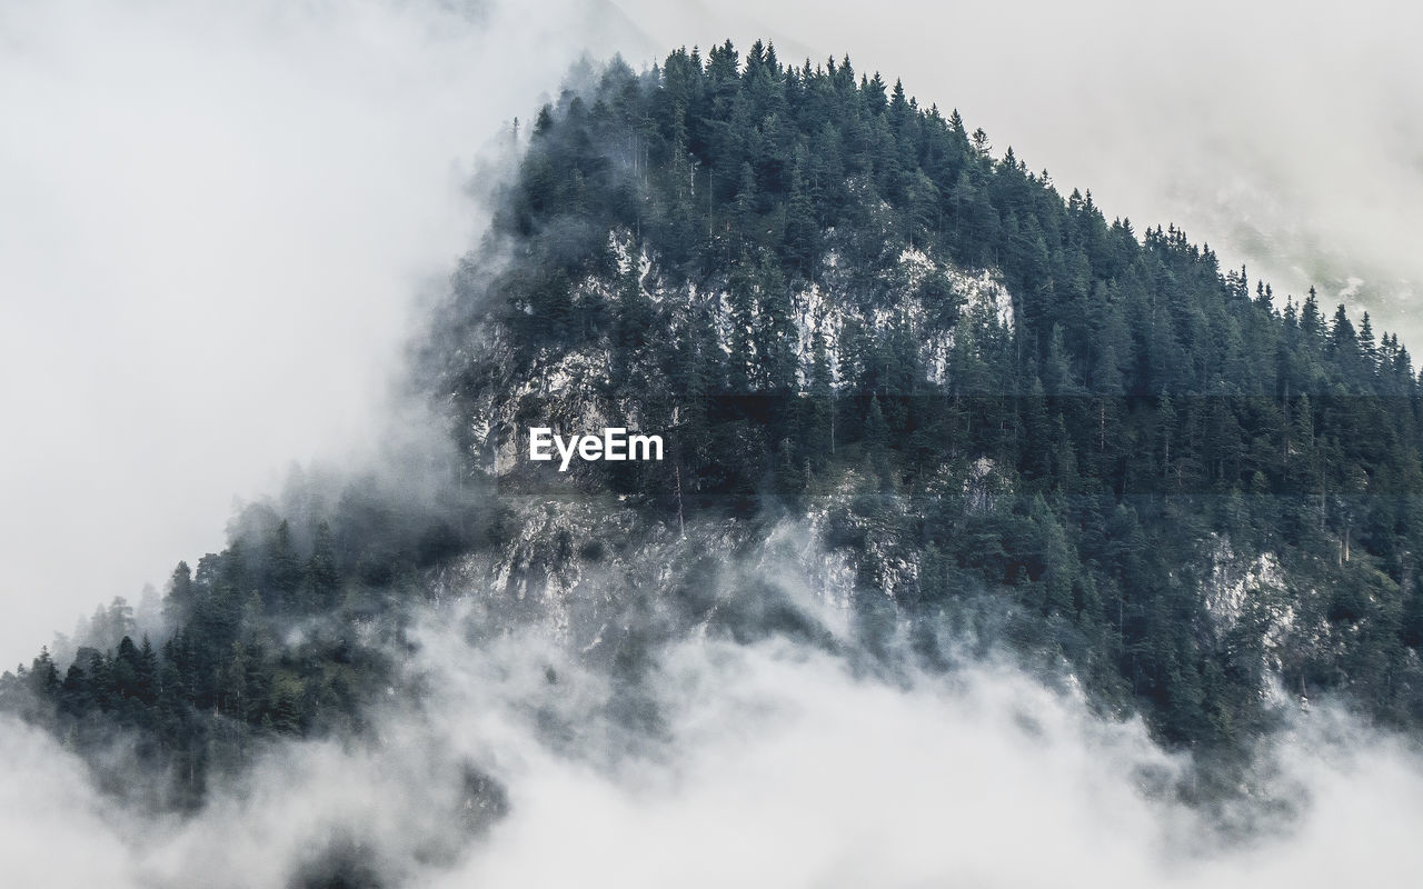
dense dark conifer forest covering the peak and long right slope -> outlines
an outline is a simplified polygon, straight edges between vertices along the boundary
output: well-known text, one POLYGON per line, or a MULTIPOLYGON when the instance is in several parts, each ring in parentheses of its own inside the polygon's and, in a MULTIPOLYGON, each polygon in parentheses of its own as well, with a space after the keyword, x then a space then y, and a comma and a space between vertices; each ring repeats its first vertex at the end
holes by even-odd
MULTIPOLYGON (((494 243, 515 260, 491 279, 471 257, 444 336, 492 314, 517 363, 609 348, 608 401, 672 437, 667 464, 583 484, 744 515, 855 479, 831 536, 867 585, 892 550, 919 566, 896 592, 909 614, 1006 592, 1099 693, 1177 741, 1261 724, 1269 622, 1220 623, 1202 586, 1222 542, 1269 552, 1296 613, 1312 603, 1301 620, 1338 643, 1286 640, 1286 684, 1349 688, 1390 721, 1423 713, 1419 380, 1368 319, 1329 317, 1313 292, 1276 306, 1180 229, 1109 222, 1012 148, 995 158, 958 112, 761 44, 679 50, 645 74, 615 63, 545 108, 494 243), (535 302, 548 276, 615 279, 625 233, 655 263, 625 287, 636 299, 579 300, 566 321, 535 302), (911 327, 887 284, 906 249, 995 269, 1013 324, 969 312, 935 267, 908 292, 925 314, 911 327), (797 330, 813 287, 847 304, 797 330), (921 340, 949 331, 932 383, 921 340)), ((499 377, 441 343, 433 366, 474 410, 499 377)))

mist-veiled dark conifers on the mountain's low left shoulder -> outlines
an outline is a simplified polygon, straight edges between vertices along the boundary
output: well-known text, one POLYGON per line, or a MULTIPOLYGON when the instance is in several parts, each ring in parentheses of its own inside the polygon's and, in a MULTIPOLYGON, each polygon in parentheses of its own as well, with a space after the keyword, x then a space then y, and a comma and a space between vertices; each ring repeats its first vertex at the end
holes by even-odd
MULTIPOLYGON (((313 494, 290 492, 293 511, 313 494)), ((414 577, 498 531, 472 485, 421 502, 400 482, 361 478, 336 501, 302 523, 248 508, 228 549, 196 572, 174 570, 161 646, 127 632, 110 642, 134 626, 115 599, 90 622, 94 644, 111 647, 80 647, 63 676, 46 649, 0 677, 0 707, 80 752, 131 741, 132 768, 101 782, 178 808, 199 804, 211 774, 239 768, 269 738, 360 733, 390 680, 414 577)))

